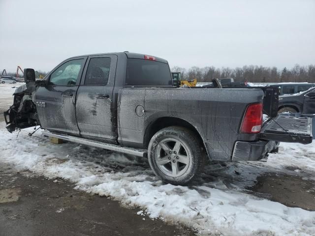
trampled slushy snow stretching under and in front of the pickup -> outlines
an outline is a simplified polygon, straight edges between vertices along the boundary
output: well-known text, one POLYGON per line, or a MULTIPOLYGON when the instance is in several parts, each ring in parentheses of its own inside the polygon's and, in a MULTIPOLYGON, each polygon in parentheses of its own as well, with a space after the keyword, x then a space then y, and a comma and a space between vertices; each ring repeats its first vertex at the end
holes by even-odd
MULTIPOLYGON (((315 173, 315 145, 282 144, 267 163, 208 166, 189 186, 163 184, 143 158, 74 143, 51 144, 32 128, 9 134, 0 123, 0 162, 13 163, 49 178, 62 177, 76 188, 140 207, 151 218, 181 223, 209 235, 315 235, 315 212, 285 207, 248 194, 265 172, 285 167, 315 173)), ((314 174, 313 174, 314 176, 314 174)))

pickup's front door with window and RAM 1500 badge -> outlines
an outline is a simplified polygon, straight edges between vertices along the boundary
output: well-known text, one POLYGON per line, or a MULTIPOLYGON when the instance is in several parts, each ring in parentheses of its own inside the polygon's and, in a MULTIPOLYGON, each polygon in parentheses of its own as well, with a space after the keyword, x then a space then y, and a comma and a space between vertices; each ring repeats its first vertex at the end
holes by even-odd
POLYGON ((43 128, 79 135, 75 97, 87 57, 68 59, 54 69, 48 84, 36 91, 35 102, 43 128))

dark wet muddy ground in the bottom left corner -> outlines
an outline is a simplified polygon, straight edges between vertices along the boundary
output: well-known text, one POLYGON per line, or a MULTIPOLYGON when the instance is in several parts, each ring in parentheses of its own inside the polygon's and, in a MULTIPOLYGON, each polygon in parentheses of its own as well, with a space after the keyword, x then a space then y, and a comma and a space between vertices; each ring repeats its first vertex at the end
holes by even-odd
POLYGON ((1 236, 191 236, 190 229, 137 215, 62 179, 0 166, 1 236))

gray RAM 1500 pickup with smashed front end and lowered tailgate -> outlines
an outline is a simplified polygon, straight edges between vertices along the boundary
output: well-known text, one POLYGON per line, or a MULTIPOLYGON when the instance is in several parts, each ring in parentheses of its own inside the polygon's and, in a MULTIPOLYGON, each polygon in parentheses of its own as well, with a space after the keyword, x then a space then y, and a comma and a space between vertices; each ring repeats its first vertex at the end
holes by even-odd
POLYGON ((148 156, 167 183, 187 184, 207 158, 254 161, 279 142, 312 142, 310 118, 277 117, 277 89, 176 88, 168 62, 153 56, 86 55, 41 81, 24 74, 4 112, 9 132, 40 125, 50 137, 148 156))

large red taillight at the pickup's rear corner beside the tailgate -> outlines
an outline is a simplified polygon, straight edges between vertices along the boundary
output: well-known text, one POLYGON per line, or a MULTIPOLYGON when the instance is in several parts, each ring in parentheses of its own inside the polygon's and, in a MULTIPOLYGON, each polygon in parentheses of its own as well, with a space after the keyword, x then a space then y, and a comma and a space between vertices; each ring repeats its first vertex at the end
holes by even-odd
POLYGON ((256 134, 262 125, 262 103, 251 104, 247 107, 242 125, 241 133, 256 134))

